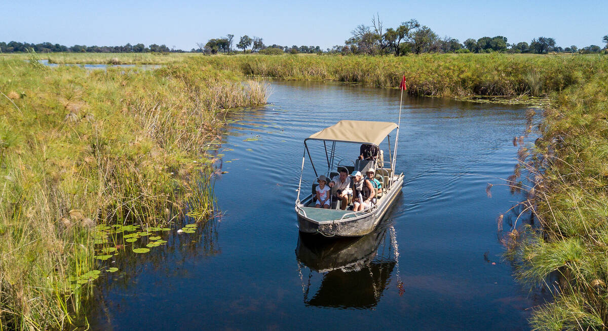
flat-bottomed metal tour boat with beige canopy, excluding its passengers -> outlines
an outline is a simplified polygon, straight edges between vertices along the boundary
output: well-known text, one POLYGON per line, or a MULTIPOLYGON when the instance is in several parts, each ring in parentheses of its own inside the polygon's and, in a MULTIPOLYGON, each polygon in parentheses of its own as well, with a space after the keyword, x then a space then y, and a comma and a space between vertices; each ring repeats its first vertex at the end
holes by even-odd
MULTIPOLYGON (((302 169, 300 170, 300 183, 295 200, 295 212, 298 219, 299 231, 302 233, 322 234, 326 237, 360 237, 371 233, 382 216, 389 210, 395 198, 401 192, 403 186, 403 173, 397 173, 395 169, 396 152, 399 137, 399 125, 392 122, 382 121, 355 121, 341 120, 335 125, 322 129, 304 140, 304 154, 302 156, 302 169), (394 151, 391 152, 390 134, 396 131, 394 151), (384 162, 384 151, 380 145, 384 140, 388 141, 389 162, 384 162), (320 140, 325 149, 326 169, 319 173, 314 160, 311 157, 308 142, 320 140), (376 160, 342 159, 336 162, 336 143, 365 144, 376 146, 380 150, 376 160), (340 203, 331 201, 330 208, 315 208, 315 188, 317 184, 311 185, 311 193, 300 200, 302 193, 302 177, 306 155, 312 165, 315 178, 324 175, 330 178, 337 176, 340 168, 347 169, 348 173, 353 171, 364 172, 374 169, 375 177, 382 183, 382 190, 376 195, 376 203, 370 208, 362 211, 340 210, 340 203)), ((357 155, 358 156, 358 155, 357 155)))

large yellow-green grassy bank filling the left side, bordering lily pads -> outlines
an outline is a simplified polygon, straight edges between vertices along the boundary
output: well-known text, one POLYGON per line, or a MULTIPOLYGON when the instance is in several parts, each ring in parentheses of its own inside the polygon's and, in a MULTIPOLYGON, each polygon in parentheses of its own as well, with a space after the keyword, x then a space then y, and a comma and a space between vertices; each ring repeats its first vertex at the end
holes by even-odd
POLYGON ((0 72, 2 330, 71 324, 100 272, 100 225, 168 224, 186 203, 207 216, 206 146, 230 109, 267 94, 192 63, 89 72, 0 58, 0 72))

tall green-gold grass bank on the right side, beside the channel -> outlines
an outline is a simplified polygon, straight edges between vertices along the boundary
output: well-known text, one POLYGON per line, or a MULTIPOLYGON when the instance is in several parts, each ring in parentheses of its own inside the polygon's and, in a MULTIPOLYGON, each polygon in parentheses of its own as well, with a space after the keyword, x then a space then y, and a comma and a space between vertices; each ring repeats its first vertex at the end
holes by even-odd
MULTIPOLYGON (((528 160, 527 188, 541 227, 511 248, 517 278, 555 300, 531 319, 537 330, 608 329, 608 65, 563 90, 545 110, 528 160), (549 281, 550 275, 558 281, 549 281)), ((525 159, 525 158, 523 158, 525 159)))

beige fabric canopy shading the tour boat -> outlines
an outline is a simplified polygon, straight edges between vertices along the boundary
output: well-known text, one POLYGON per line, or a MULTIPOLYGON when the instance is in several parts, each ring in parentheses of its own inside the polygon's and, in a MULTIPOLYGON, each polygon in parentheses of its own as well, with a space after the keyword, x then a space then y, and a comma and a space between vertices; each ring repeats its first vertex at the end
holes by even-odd
POLYGON ((371 143, 378 146, 382 140, 396 128, 397 125, 392 122, 342 120, 335 125, 311 135, 305 140, 314 139, 348 143, 371 143))

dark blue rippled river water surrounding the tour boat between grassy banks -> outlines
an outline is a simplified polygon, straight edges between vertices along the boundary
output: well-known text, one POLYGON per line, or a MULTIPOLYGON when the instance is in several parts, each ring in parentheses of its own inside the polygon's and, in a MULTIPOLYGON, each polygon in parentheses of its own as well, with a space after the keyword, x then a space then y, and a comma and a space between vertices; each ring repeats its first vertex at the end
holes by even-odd
MULTIPOLYGON (((300 238, 294 213, 303 138, 340 119, 396 122, 398 90, 272 89, 272 104, 236 115, 218 149, 223 215, 196 234, 171 231, 149 254, 119 254, 120 271, 98 283, 92 329, 529 329, 540 299, 513 280, 496 225, 521 197, 485 193, 513 172, 522 107, 404 98, 401 197, 374 233, 317 242, 300 238)), ((358 154, 344 147, 341 157, 358 154)), ((322 164, 322 150, 311 152, 322 164)))

